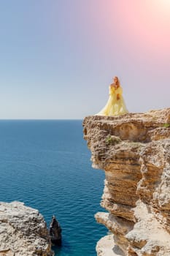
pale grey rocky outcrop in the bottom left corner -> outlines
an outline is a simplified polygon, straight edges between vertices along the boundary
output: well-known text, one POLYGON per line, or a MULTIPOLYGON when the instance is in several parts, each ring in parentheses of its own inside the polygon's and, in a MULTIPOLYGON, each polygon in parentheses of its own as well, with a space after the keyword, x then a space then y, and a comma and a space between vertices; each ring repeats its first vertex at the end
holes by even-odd
POLYGON ((53 256, 39 211, 20 202, 0 202, 0 256, 53 256))

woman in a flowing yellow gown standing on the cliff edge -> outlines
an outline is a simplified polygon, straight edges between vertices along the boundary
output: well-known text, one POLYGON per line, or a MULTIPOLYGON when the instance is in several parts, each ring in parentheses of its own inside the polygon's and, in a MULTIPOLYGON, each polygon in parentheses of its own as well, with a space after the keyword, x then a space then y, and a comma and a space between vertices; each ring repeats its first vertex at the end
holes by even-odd
POLYGON ((123 99, 123 89, 117 77, 113 78, 113 83, 109 86, 109 99, 107 104, 95 116, 120 116, 128 113, 123 99))

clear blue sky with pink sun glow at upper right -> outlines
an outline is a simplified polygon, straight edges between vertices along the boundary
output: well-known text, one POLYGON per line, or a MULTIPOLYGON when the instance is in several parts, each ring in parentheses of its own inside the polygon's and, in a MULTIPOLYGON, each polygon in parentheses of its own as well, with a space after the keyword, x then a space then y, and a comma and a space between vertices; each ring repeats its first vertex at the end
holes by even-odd
POLYGON ((0 118, 84 118, 117 75, 129 112, 170 107, 170 0, 0 1, 0 118))

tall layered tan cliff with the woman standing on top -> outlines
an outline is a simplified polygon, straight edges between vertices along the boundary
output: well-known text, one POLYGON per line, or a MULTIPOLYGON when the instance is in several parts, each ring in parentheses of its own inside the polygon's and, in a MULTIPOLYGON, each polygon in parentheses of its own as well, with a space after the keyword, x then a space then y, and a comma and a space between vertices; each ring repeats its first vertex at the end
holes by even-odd
POLYGON ((124 116, 87 116, 92 166, 106 174, 96 220, 114 236, 98 256, 170 255, 170 108, 124 116))

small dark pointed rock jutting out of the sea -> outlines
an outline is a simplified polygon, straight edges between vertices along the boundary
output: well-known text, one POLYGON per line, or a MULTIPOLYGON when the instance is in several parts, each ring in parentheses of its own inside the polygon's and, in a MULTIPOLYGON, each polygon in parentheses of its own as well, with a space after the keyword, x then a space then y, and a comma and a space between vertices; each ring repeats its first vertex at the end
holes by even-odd
POLYGON ((61 246, 61 226, 55 216, 50 223, 50 238, 53 245, 61 246))

